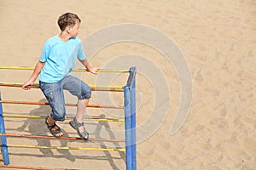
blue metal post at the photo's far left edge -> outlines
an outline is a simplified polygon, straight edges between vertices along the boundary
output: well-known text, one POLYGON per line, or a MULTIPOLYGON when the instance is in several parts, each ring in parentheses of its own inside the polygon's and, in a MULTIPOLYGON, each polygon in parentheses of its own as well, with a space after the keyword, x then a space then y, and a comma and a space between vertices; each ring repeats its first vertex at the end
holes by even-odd
MULTIPOLYGON (((2 100, 1 92, 0 92, 0 100, 2 100)), ((3 122, 2 103, 0 103, 0 133, 5 133, 5 127, 4 127, 4 122, 3 122)), ((1 136, 0 139, 1 139, 2 155, 3 155, 4 165, 9 165, 9 153, 8 153, 8 148, 7 148, 6 136, 1 136)))

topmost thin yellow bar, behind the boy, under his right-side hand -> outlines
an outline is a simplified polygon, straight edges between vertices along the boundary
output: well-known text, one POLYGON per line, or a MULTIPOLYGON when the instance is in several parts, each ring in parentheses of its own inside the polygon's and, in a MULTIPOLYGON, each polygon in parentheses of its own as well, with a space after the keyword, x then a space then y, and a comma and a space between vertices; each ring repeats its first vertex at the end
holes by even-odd
MULTIPOLYGON (((0 66, 0 69, 5 70, 26 70, 26 71, 33 71, 34 67, 29 66, 0 66)), ((88 72, 86 69, 74 69, 73 71, 76 72, 88 72)), ((118 70, 118 69, 98 69, 96 72, 129 72, 129 70, 118 70)))

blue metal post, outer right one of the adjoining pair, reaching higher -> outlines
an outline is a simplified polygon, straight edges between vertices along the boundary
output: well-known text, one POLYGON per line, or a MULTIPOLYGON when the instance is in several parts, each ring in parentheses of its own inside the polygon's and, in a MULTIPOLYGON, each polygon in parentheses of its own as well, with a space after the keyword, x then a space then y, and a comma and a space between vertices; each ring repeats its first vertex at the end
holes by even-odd
POLYGON ((133 81, 131 85, 131 150, 132 170, 137 169, 137 139, 136 139, 136 68, 133 70, 133 81))

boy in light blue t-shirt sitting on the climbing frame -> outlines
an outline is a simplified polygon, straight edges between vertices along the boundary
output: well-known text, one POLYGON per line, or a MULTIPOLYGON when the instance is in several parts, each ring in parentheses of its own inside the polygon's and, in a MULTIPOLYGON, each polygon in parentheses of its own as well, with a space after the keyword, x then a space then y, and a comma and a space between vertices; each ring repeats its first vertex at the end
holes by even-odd
POLYGON ((78 97, 77 113, 69 124, 77 130, 81 139, 89 139, 89 133, 85 131, 82 119, 90 99, 90 87, 79 78, 70 75, 77 58, 91 73, 96 74, 97 70, 95 66, 89 65, 81 41, 77 37, 80 22, 79 16, 72 13, 62 14, 59 17, 58 26, 61 33, 55 37, 50 37, 44 43, 41 58, 32 76, 22 86, 25 90, 30 89, 29 85, 32 85, 40 75, 39 87, 51 107, 51 112, 45 119, 45 123, 55 138, 60 138, 63 135, 61 128, 55 122, 65 121, 66 111, 63 94, 65 89, 78 97))

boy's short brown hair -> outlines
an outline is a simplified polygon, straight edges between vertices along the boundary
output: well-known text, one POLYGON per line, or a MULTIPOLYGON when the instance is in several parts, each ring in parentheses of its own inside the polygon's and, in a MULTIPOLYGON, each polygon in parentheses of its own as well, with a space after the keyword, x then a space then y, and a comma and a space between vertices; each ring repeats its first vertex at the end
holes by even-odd
POLYGON ((61 31, 64 31, 67 26, 75 26, 77 22, 81 22, 79 16, 72 13, 62 14, 58 19, 58 25, 61 31))

